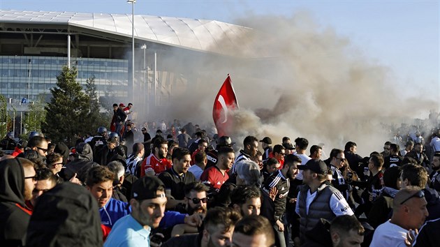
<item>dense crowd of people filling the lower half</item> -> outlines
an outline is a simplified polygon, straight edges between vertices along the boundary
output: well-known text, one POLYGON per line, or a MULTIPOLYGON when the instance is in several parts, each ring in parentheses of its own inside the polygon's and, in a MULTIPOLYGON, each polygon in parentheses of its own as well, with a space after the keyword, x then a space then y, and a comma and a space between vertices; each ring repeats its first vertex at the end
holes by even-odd
POLYGON ((128 105, 115 104, 110 128, 75 147, 37 132, 16 142, 8 133, 1 143, 14 152, 0 158, 2 246, 439 242, 438 121, 432 130, 411 126, 405 137, 400 128, 367 157, 353 141, 324 156, 306 137, 249 135, 236 144, 212 126, 177 120, 138 132, 128 105))

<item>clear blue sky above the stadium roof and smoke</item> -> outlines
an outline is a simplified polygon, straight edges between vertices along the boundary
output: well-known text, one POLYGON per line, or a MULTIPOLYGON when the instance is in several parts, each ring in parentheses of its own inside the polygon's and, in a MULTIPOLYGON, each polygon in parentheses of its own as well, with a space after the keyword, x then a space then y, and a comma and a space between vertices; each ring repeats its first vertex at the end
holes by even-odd
MULTIPOLYGON (((3 10, 129 13, 125 0, 0 0, 3 10)), ((402 84, 439 93, 439 1, 145 1, 135 14, 219 20, 308 11, 321 27, 350 38, 366 57, 388 66, 402 84), (434 88, 432 88, 434 87, 434 88)), ((440 103, 439 103, 440 104, 440 103)))

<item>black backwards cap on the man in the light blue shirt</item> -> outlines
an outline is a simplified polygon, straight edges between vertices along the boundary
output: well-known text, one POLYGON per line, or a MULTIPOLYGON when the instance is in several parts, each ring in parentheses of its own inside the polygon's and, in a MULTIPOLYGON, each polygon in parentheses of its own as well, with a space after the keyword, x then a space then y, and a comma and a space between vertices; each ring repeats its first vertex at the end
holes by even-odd
POLYGON ((147 200, 157 197, 165 197, 165 185, 157 177, 142 177, 136 180, 131 186, 131 197, 135 200, 147 200), (163 190, 163 193, 157 195, 157 190, 163 190))

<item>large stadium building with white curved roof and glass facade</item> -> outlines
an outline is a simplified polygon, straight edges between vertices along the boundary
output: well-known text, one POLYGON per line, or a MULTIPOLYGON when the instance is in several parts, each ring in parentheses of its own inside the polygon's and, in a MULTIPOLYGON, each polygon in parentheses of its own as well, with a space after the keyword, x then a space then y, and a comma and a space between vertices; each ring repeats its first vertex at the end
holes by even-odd
POLYGON ((26 111, 39 96, 50 98, 62 66, 70 65, 81 84, 95 78, 101 103, 161 107, 173 90, 198 78, 173 66, 174 54, 228 57, 250 31, 215 20, 134 15, 133 25, 131 13, 0 10, 0 92, 8 107, 26 111))

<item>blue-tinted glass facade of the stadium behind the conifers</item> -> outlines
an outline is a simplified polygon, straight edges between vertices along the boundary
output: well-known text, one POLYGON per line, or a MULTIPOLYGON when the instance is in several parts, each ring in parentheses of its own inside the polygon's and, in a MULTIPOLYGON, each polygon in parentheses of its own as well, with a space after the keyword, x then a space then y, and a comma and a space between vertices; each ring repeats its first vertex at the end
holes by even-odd
MULTIPOLYGON (((0 56, 0 93, 13 102, 36 100, 39 94, 50 93, 66 64, 66 57, 0 56)), ((106 91, 127 97, 128 60, 71 58, 71 66, 78 69, 77 82, 82 85, 95 77, 98 97, 105 96, 106 91)))

